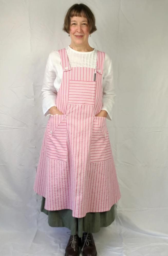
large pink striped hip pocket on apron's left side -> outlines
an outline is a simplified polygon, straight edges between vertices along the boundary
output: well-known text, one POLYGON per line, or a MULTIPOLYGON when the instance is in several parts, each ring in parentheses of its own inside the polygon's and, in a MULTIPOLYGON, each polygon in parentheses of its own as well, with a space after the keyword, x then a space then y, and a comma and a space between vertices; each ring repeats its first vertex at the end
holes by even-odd
POLYGON ((46 154, 51 159, 67 161, 67 115, 51 115, 47 124, 46 154))

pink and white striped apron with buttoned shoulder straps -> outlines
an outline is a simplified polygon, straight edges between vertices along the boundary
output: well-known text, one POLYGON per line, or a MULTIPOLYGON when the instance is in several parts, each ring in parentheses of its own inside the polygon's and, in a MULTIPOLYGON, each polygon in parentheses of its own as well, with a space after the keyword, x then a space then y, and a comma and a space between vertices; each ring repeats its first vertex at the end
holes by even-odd
POLYGON ((71 209, 82 218, 109 211, 121 197, 106 117, 95 116, 102 107, 105 53, 97 51, 96 70, 70 67, 65 48, 59 54, 56 106, 63 114, 49 117, 33 189, 45 197, 46 210, 71 209))

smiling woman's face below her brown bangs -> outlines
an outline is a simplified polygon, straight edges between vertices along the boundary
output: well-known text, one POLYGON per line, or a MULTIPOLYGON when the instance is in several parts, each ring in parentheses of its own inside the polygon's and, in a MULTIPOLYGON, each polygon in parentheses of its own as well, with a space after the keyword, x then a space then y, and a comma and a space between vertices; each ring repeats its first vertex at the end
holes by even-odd
POLYGON ((69 34, 71 37, 72 43, 77 45, 83 45, 88 43, 89 37, 89 26, 87 18, 85 17, 70 17, 70 29, 69 34), (77 37, 81 36, 81 37, 77 37))

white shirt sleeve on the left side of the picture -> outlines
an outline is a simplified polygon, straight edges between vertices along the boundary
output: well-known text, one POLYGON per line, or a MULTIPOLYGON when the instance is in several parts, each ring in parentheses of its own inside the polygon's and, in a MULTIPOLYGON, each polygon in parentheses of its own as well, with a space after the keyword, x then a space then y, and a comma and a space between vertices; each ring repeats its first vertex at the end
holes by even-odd
POLYGON ((51 62, 51 53, 48 56, 45 72, 44 72, 44 79, 43 79, 43 86, 41 89, 42 92, 42 108, 43 114, 45 116, 49 115, 49 108, 52 106, 56 106, 56 98, 57 98, 57 90, 54 87, 54 80, 57 76, 56 70, 53 67, 51 62))

